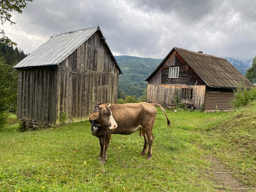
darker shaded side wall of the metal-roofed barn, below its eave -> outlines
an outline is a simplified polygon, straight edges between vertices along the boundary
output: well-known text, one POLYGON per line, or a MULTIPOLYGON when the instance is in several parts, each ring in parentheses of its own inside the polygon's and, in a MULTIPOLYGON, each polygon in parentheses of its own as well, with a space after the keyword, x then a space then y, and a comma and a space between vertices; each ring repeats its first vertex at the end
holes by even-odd
POLYGON ((57 68, 18 70, 17 116, 49 125, 56 122, 57 68))

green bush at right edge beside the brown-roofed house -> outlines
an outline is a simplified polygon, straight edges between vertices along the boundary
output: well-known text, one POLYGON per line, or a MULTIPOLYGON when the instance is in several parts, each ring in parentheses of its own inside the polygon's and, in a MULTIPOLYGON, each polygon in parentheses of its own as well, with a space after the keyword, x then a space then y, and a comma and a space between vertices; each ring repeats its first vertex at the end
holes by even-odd
POLYGON ((244 83, 240 83, 234 90, 234 99, 231 100, 231 105, 235 108, 244 107, 252 100, 256 99, 256 87, 247 89, 244 83))

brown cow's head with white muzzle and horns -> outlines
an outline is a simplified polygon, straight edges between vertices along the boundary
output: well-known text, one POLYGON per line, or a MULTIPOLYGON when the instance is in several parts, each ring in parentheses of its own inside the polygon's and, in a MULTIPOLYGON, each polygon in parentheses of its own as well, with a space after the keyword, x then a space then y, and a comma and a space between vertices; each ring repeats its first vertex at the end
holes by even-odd
POLYGON ((109 129, 117 128, 117 123, 112 116, 112 111, 109 108, 110 104, 102 103, 94 107, 93 112, 89 116, 89 121, 97 127, 108 127, 109 129))

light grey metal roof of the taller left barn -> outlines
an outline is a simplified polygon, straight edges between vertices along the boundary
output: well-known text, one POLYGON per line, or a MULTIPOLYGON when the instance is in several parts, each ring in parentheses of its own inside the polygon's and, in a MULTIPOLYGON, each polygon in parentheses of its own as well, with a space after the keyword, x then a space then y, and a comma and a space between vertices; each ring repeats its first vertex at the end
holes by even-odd
MULTIPOLYGON (((86 40, 88 40, 96 31, 99 31, 99 35, 105 41, 99 26, 53 35, 47 42, 38 47, 13 68, 59 65, 86 40)), ((112 55, 108 45, 106 43, 105 45, 108 49, 108 53, 114 60, 114 63, 117 65, 117 61, 112 55)), ((121 69, 118 65, 117 67, 119 69, 119 73, 121 74, 121 69)))

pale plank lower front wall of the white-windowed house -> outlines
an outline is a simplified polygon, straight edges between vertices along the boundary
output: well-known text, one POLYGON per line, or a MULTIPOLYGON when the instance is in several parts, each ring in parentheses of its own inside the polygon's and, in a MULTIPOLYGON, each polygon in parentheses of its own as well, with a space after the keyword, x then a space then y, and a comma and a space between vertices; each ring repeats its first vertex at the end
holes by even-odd
POLYGON ((195 109, 200 109, 200 105, 204 103, 205 85, 155 85, 148 84, 148 102, 172 105, 175 103, 175 89, 179 92, 181 103, 193 104, 195 109), (193 89, 192 100, 181 99, 182 88, 193 89))

